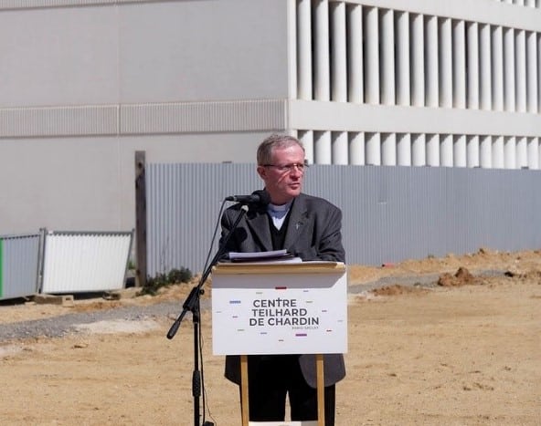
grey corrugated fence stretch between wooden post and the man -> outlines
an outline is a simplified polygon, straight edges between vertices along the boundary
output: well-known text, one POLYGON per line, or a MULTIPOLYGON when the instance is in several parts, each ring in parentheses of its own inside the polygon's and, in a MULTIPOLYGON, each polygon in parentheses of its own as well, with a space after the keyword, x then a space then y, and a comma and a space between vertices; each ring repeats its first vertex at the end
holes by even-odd
POLYGON ((261 187, 251 164, 149 164, 146 176, 150 276, 180 267, 200 272, 222 201, 261 187))

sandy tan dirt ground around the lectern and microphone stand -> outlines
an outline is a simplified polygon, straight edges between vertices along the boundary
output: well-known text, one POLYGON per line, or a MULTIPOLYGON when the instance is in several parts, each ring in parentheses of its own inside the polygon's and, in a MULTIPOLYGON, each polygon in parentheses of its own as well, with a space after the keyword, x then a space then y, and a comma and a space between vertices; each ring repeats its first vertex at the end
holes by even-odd
MULTIPOLYGON (((337 426, 541 424, 541 252, 430 258, 348 267, 349 286, 384 276, 440 275, 440 286, 388 286, 349 296, 347 377, 337 426), (461 272, 459 272, 459 269, 461 272), (505 275, 487 277, 482 270, 505 275)), ((76 300, 73 307, 0 307, 0 323, 178 300, 76 300)), ((208 293, 208 292, 207 292, 208 293)), ((65 338, 0 342, 0 423, 190 425, 193 329, 186 317, 94 323, 65 338)), ((206 420, 239 425, 238 389, 212 355, 202 316, 206 420)), ((0 327, 2 327, 0 325, 0 327)))

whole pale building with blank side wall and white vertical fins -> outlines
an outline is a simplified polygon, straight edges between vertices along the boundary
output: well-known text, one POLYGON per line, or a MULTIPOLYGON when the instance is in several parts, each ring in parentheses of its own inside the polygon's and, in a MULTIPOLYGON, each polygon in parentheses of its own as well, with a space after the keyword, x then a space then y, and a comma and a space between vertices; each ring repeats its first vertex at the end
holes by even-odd
MULTIPOLYGON (((0 0, 0 234, 126 230, 134 152, 541 167, 540 0, 0 0)), ((197 188, 197 182, 193 182, 197 188)))

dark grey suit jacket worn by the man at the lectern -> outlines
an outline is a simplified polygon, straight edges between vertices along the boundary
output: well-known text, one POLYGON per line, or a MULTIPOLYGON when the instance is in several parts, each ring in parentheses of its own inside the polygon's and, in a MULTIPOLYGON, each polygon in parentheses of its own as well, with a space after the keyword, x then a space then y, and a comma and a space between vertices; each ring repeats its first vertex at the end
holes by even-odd
MULTIPOLYGON (((239 216, 240 205, 226 210, 221 219, 222 239, 229 234, 239 216)), ((301 193, 295 198, 290 212, 283 248, 302 260, 325 260, 345 262, 342 246, 342 212, 323 198, 301 193)), ((221 244, 220 241, 220 244, 221 244)), ((233 230, 228 243, 228 252, 263 252, 272 250, 267 208, 251 206, 233 230)), ((250 369, 257 369, 262 357, 249 358, 250 369)), ((315 356, 300 355, 299 364, 306 382, 316 387, 315 356)), ((345 377, 342 354, 324 355, 324 384, 330 386, 345 377)), ((226 357, 226 378, 240 384, 240 360, 238 356, 226 357)))

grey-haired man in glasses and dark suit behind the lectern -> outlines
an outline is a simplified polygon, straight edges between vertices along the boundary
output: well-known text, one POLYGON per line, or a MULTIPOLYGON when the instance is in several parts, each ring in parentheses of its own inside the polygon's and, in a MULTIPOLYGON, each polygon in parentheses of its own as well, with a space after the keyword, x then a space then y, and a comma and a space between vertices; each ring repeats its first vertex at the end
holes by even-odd
MULTIPOLYGON (((270 197, 265 205, 251 204, 239 225, 235 204, 223 214, 222 240, 231 236, 227 252, 263 252, 287 249, 303 261, 345 262, 342 212, 323 198, 302 193, 307 169, 299 140, 271 135, 260 144, 257 171, 270 197)), ((249 356, 249 420, 284 421, 289 396, 292 421, 317 420, 314 355, 249 356)), ((334 425, 334 384, 344 379, 342 354, 324 356, 325 425, 334 425)), ((240 384, 238 356, 226 358, 226 378, 240 384)))

